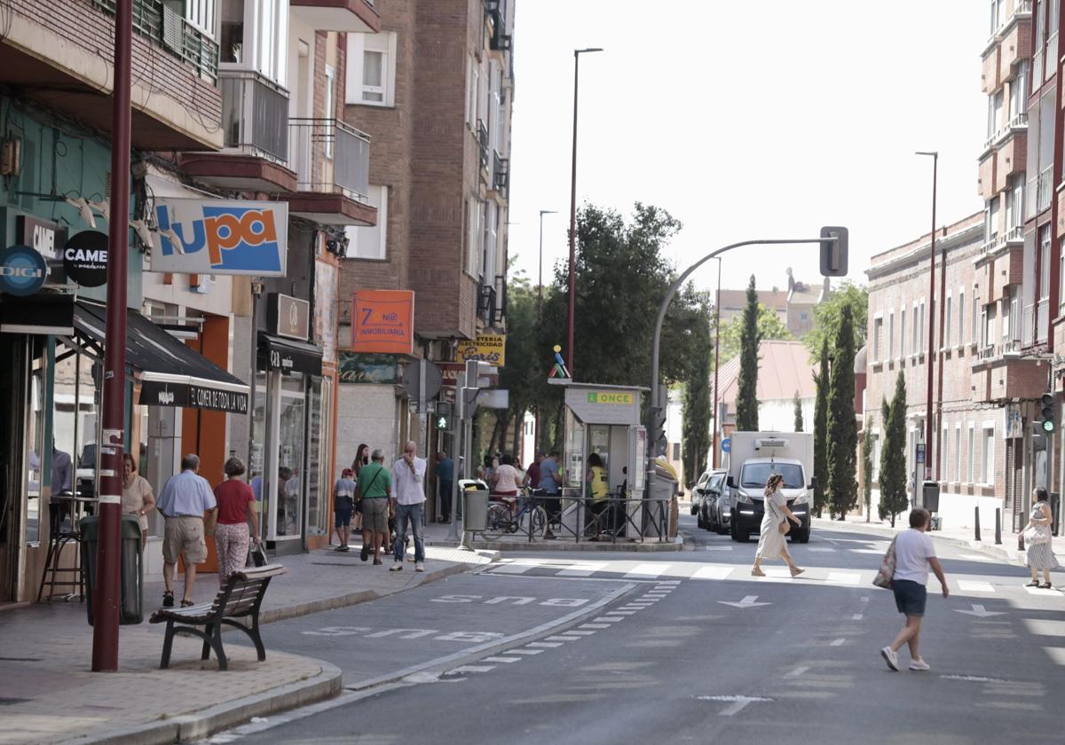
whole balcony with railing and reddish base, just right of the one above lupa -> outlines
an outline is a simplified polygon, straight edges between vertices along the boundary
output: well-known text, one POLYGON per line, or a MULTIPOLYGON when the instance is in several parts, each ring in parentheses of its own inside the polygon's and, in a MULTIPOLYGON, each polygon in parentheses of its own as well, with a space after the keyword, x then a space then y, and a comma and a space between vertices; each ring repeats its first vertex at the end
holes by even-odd
POLYGON ((368 204, 370 136, 338 119, 290 119, 296 194, 289 211, 323 225, 374 226, 368 204))

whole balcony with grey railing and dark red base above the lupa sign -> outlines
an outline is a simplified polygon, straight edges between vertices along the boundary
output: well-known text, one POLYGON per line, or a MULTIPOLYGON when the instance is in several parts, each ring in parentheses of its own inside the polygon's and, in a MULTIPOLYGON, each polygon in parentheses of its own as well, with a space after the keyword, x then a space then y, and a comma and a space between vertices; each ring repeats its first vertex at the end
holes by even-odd
POLYGON ((226 150, 182 153, 190 176, 224 188, 295 192, 289 161, 289 92, 251 70, 223 69, 222 127, 226 150))

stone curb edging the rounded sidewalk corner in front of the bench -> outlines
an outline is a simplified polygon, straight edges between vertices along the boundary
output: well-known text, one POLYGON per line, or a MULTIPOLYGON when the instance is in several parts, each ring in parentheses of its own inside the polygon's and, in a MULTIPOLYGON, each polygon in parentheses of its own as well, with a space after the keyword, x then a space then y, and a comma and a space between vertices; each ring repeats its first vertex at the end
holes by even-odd
POLYGON ((187 742, 244 724, 255 716, 276 714, 335 698, 343 690, 340 668, 328 662, 314 662, 322 666, 322 672, 307 680, 226 701, 194 714, 113 730, 99 738, 75 738, 61 742, 78 745, 160 745, 187 742))

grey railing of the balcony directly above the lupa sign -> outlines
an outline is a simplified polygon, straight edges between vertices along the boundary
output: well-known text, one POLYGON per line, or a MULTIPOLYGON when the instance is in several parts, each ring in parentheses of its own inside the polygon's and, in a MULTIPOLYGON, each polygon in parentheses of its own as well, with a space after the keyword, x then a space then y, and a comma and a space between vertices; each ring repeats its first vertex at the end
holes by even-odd
POLYGON ((289 92, 251 70, 222 70, 218 80, 226 147, 286 163, 289 92))

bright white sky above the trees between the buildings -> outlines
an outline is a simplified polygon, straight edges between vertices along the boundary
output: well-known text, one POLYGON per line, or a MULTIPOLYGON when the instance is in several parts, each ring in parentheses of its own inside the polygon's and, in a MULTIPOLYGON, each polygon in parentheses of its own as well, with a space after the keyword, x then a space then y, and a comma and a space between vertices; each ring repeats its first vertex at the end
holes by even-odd
MULTIPOLYGON (((753 237, 850 228, 850 278, 870 256, 931 225, 982 209, 986 139, 977 0, 518 0, 510 254, 536 282, 539 211, 544 277, 568 255, 573 50, 580 59, 577 203, 628 214, 669 210, 684 230, 669 249, 686 267, 753 237)), ((740 253, 739 251, 746 251, 740 253)), ((820 282, 817 249, 728 254, 725 287, 820 282)), ((712 287, 716 262, 697 275, 712 287)), ((611 267, 604 267, 605 270, 611 267)))

